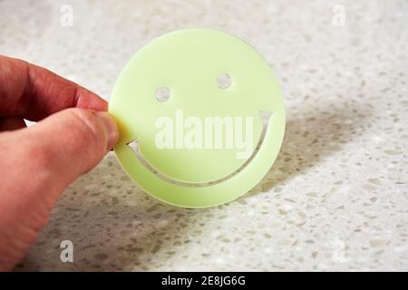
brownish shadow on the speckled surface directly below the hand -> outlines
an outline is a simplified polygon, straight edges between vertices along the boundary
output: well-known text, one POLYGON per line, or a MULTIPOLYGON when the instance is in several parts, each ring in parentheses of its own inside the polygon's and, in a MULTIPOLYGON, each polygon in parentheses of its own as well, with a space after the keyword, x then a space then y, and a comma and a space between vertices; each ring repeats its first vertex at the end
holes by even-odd
POLYGON ((52 218, 15 271, 151 270, 189 243, 199 211, 151 198, 112 156, 66 190, 52 218), (73 244, 73 263, 60 256, 73 244))

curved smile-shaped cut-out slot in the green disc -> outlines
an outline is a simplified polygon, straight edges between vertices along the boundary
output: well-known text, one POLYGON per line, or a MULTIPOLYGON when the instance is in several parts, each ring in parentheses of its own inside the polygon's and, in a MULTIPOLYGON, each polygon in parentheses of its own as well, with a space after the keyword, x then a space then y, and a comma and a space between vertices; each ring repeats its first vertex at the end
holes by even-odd
POLYGON ((262 144, 264 142, 265 135, 266 135, 267 129, 268 129, 268 122, 269 122, 270 118, 272 117, 272 114, 273 114, 273 112, 270 112, 270 111, 259 111, 259 115, 260 115, 261 120, 262 120, 262 132, 261 132, 259 140, 257 141, 257 146, 255 147, 255 150, 252 152, 252 154, 249 156, 248 160, 246 160, 244 164, 242 164, 238 169, 236 169, 232 173, 228 174, 227 176, 225 176, 225 177, 223 177, 221 179, 216 179, 216 180, 209 181, 209 182, 184 182, 184 181, 180 181, 180 180, 171 179, 170 177, 168 177, 165 174, 161 173, 157 169, 154 169, 151 166, 151 164, 147 160, 144 159, 144 157, 141 154, 141 150, 139 149, 139 141, 137 139, 129 142, 126 145, 128 145, 131 148, 131 150, 135 153, 138 160, 141 161, 141 164, 146 169, 151 171, 152 174, 156 175, 160 179, 163 179, 163 180, 165 180, 167 182, 170 182, 170 183, 175 184, 175 185, 180 185, 180 186, 183 186, 183 187, 190 187, 190 188, 209 187, 211 185, 219 184, 219 183, 224 182, 224 181, 226 181, 228 179, 231 179, 232 177, 237 175, 240 171, 245 169, 248 166, 248 164, 255 158, 255 156, 257 156, 257 151, 260 149, 260 147, 262 146, 262 144))

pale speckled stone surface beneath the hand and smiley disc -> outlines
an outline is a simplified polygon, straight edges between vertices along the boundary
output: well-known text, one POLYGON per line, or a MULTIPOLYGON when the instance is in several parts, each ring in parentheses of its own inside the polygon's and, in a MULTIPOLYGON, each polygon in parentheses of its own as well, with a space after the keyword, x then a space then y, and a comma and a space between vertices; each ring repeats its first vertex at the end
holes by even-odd
POLYGON ((253 44, 287 105, 279 158, 243 198, 171 207, 110 153, 66 190, 17 270, 408 270, 408 2, 335 4, 0 0, 0 53, 106 99, 143 44, 201 26, 253 44))

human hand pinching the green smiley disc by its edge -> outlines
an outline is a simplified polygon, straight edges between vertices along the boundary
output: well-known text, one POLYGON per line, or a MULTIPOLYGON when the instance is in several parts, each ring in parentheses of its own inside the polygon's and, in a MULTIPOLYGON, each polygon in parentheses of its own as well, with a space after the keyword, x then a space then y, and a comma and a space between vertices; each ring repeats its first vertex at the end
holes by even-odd
POLYGON ((0 271, 24 257, 58 196, 118 140, 106 110, 93 92, 0 55, 0 271), (25 128, 24 119, 38 123, 25 128))

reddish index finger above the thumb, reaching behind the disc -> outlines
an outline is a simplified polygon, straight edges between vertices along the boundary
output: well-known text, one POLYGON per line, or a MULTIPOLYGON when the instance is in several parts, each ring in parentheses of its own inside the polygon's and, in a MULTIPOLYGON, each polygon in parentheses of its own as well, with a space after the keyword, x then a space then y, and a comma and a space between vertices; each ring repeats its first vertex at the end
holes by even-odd
POLYGON ((108 103, 43 67, 0 55, 0 116, 39 121, 72 107, 106 111, 108 103))

